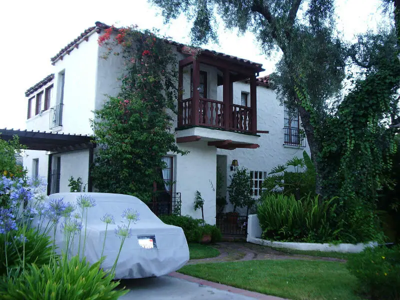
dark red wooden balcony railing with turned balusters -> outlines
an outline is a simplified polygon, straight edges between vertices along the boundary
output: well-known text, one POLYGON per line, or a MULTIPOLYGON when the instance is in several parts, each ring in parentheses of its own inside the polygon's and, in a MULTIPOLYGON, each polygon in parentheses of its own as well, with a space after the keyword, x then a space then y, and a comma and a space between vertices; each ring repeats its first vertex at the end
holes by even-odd
POLYGON ((251 107, 229 105, 229 115, 225 115, 225 103, 222 101, 200 98, 198 111, 193 113, 192 98, 178 103, 178 127, 201 125, 226 130, 252 132, 251 107))

